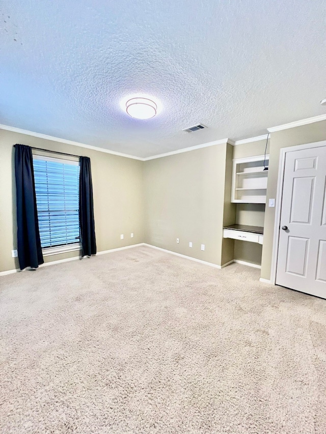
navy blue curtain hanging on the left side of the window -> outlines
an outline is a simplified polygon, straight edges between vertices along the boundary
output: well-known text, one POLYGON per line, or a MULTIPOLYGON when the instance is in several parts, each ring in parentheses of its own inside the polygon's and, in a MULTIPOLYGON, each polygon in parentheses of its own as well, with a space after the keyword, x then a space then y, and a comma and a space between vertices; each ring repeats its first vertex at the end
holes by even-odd
POLYGON ((20 270, 43 264, 36 208, 32 149, 15 144, 17 249, 20 270))

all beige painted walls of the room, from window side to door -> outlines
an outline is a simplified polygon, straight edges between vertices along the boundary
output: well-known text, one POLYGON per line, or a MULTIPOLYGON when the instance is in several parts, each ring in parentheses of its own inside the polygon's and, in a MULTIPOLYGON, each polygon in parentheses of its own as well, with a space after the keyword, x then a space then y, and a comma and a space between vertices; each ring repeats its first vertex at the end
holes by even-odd
MULTIPOLYGON (((325 139, 326 121, 271 134, 267 201, 276 197, 280 149, 325 139)), ((262 155, 265 140, 233 148, 229 144, 216 145, 142 162, 5 130, 0 130, 0 271, 18 268, 17 259, 11 257, 11 250, 17 248, 15 143, 91 158, 98 251, 145 241, 217 265, 230 261, 233 252, 235 259, 259 264, 260 245, 224 240, 222 227, 234 222, 263 225, 261 276, 270 278, 275 208, 230 204, 231 157, 262 155), (120 234, 125 235, 124 240, 120 240, 120 234), (180 244, 176 243, 177 237, 180 244), (188 247, 189 241, 193 248, 188 247), (204 252, 201 244, 205 244, 204 252)), ((44 259, 57 261, 77 254, 44 259)))

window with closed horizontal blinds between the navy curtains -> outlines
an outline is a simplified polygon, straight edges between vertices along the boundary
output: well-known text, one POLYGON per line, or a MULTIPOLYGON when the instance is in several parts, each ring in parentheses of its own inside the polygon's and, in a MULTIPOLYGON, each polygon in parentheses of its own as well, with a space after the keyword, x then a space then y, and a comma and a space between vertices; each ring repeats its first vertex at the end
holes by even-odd
POLYGON ((33 155, 43 255, 78 250, 79 162, 33 155))

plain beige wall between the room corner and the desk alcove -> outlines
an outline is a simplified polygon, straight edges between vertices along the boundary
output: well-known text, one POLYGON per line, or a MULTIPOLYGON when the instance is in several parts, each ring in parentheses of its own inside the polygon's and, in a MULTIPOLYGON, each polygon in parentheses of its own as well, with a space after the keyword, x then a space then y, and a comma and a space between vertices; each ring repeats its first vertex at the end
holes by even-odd
POLYGON ((220 144, 146 161, 148 244, 222 264, 226 154, 220 144))

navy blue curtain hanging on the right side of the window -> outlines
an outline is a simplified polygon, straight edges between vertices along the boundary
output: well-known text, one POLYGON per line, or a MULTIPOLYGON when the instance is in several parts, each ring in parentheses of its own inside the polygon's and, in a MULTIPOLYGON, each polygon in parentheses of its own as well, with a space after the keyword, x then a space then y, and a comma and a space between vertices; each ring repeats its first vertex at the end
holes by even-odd
POLYGON ((91 160, 89 157, 80 157, 79 224, 83 249, 82 256, 95 255, 96 239, 93 208, 93 185, 91 160))

